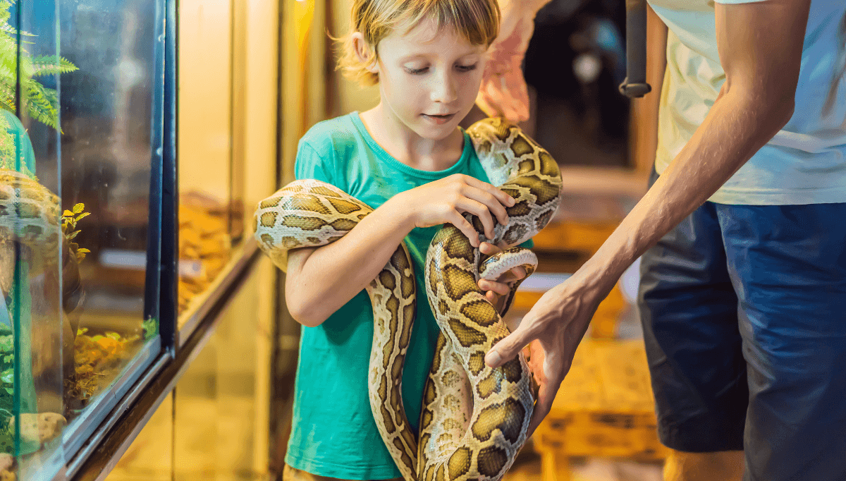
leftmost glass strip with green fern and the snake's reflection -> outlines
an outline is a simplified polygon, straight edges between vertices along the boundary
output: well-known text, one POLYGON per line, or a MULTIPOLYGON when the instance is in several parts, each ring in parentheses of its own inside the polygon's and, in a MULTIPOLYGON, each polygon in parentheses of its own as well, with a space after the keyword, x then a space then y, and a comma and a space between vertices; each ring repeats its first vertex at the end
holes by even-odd
MULTIPOLYGON (((0 1, 0 477, 63 465, 63 379, 73 371, 73 243, 59 200, 56 4, 0 1)), ((14 475, 13 475, 14 476, 14 475)))

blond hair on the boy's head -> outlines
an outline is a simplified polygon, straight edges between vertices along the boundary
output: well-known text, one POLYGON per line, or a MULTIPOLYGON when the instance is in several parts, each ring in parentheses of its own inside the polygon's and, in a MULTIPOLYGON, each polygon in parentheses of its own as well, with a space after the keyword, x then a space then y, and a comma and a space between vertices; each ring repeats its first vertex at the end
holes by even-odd
POLYGON ((500 12, 497 0, 354 0, 349 33, 332 38, 341 43, 338 69, 362 86, 376 85, 379 75, 367 67, 379 59, 379 41, 400 25, 409 25, 411 30, 423 19, 434 19, 437 31, 450 28, 471 45, 490 47, 499 32, 500 12), (356 31, 365 38, 365 61, 355 53, 352 36, 356 31))

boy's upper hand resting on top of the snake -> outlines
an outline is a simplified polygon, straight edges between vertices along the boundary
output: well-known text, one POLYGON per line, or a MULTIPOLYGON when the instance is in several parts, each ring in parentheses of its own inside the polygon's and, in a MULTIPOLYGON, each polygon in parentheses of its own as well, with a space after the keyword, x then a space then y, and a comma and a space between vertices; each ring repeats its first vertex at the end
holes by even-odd
POLYGON ((493 217, 496 216, 500 224, 508 224, 505 207, 514 205, 514 199, 505 192, 464 174, 453 174, 420 185, 393 196, 393 199, 402 202, 404 213, 415 227, 453 224, 470 238, 474 247, 479 246, 479 235, 464 218, 464 213, 478 217, 485 227, 486 237, 492 239, 496 226, 493 217))

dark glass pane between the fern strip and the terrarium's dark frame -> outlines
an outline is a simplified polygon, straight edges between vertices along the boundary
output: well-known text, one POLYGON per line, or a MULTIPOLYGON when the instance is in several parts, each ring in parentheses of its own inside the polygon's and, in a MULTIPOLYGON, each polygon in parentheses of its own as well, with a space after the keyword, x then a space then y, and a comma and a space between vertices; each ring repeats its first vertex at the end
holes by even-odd
POLYGON ((154 11, 155 0, 61 3, 62 57, 79 68, 62 77, 62 201, 74 220, 91 214, 74 226, 74 242, 90 253, 80 263, 74 369, 64 393, 69 420, 157 335, 157 320, 143 310, 158 148, 151 146, 154 11))

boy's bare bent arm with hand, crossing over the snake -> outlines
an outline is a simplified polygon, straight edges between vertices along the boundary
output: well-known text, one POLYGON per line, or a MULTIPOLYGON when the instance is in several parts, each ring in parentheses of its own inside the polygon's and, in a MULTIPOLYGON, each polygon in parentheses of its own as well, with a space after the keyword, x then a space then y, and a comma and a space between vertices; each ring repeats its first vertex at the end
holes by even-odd
POLYGON ((450 223, 478 246, 478 235, 463 214, 477 216, 490 238, 497 222, 508 223, 503 206, 513 205, 505 192, 463 174, 400 192, 341 239, 288 254, 288 311, 303 325, 319 325, 376 279, 411 229, 450 223))

